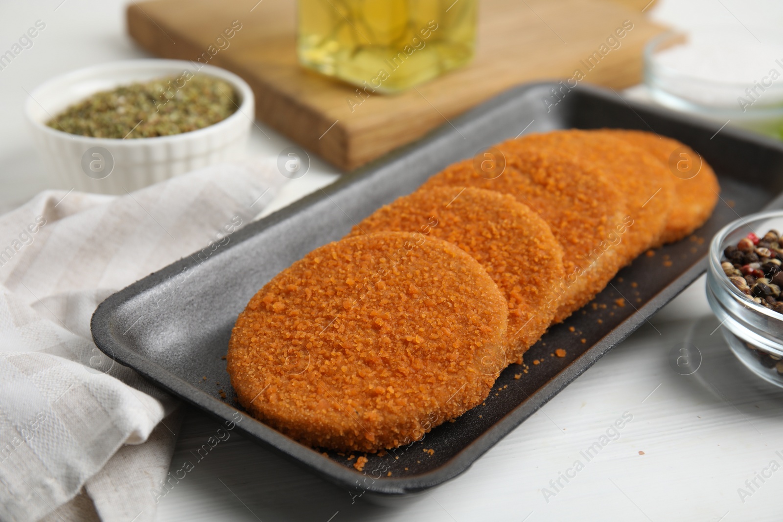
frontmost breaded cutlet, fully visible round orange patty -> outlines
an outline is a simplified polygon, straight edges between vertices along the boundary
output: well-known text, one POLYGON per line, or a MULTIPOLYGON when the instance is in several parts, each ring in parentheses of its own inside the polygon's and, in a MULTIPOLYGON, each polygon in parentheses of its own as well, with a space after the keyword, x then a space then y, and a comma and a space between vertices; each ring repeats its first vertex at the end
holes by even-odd
POLYGON ((236 319, 231 384, 298 441, 374 452, 481 404, 505 360, 508 307, 451 243, 377 232, 316 248, 236 319))

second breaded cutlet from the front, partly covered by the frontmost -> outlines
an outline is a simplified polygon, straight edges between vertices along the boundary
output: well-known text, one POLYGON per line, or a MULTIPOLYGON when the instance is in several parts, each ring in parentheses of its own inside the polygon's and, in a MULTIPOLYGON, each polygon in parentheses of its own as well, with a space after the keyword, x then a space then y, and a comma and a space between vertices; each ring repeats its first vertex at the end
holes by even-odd
POLYGON ((465 250, 508 301, 507 362, 547 330, 557 310, 563 249, 547 221, 513 196, 472 187, 429 187, 373 212, 351 236, 383 230, 421 232, 465 250))

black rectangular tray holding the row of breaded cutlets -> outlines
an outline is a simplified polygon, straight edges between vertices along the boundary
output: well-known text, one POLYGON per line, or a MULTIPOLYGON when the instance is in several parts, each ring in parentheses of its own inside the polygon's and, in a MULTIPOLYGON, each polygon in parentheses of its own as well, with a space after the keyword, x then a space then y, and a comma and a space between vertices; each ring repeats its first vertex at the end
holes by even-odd
POLYGON ((528 372, 519 365, 507 368, 485 405, 436 427, 410 447, 367 455, 362 472, 352 467, 356 460, 348 460, 349 455, 301 445, 247 415, 236 425, 244 436, 352 495, 408 495, 456 477, 704 272, 709 239, 720 227, 780 203, 775 196, 783 188, 783 147, 777 141, 729 128, 716 133, 720 124, 626 103, 612 91, 579 86, 564 93, 559 87, 536 83, 511 89, 419 142, 247 225, 206 261, 185 257, 115 293, 92 317, 97 346, 218 419, 235 419, 241 406, 222 356, 244 304, 283 268, 345 236, 355 222, 413 192, 446 165, 522 131, 557 128, 652 130, 693 147, 720 178, 712 218, 690 238, 637 258, 592 303, 552 326, 525 355, 528 372), (192 272, 180 282, 183 270, 192 272), (621 298, 624 306, 618 304, 621 298), (557 348, 565 349, 565 358, 551 355, 557 348), (542 362, 533 365, 534 359, 542 362))

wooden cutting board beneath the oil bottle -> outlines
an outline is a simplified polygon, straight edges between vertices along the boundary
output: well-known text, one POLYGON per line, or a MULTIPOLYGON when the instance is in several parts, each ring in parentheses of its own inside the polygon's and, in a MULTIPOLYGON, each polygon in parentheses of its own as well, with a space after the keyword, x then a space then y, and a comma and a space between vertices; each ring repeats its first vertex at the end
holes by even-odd
POLYGON ((570 78, 580 70, 583 81, 597 85, 635 85, 644 43, 663 30, 617 2, 479 5, 477 49, 467 67, 399 95, 370 95, 359 106, 355 87, 298 65, 294 0, 132 2, 128 32, 153 55, 201 57, 239 74, 253 88, 259 120, 352 170, 525 81, 570 78), (601 48, 626 20, 633 28, 618 38, 619 47, 601 48), (233 38, 226 39, 226 30, 233 38), (597 59, 588 63, 590 56, 597 59))

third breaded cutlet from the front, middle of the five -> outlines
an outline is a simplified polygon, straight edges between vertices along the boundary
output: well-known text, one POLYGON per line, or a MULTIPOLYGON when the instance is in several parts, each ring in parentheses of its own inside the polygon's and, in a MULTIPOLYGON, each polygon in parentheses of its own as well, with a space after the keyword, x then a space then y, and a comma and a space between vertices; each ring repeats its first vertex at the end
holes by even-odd
POLYGON ((503 153, 500 174, 464 160, 429 178, 441 185, 510 194, 547 221, 563 248, 565 278, 557 285, 554 322, 561 322, 604 289, 624 263, 615 245, 628 228, 625 196, 595 167, 556 149, 518 146, 503 153))

